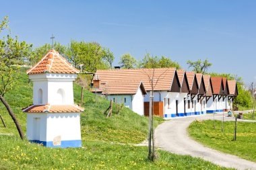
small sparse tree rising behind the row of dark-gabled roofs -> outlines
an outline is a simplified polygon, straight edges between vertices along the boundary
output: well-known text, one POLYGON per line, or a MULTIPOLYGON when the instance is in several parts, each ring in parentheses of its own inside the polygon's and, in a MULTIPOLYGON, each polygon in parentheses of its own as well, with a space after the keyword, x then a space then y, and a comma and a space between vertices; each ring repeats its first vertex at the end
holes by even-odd
POLYGON ((201 61, 201 59, 198 59, 196 61, 187 61, 187 65, 190 67, 193 67, 193 71, 196 73, 206 73, 206 71, 212 66, 212 63, 210 63, 207 59, 204 61, 201 61))

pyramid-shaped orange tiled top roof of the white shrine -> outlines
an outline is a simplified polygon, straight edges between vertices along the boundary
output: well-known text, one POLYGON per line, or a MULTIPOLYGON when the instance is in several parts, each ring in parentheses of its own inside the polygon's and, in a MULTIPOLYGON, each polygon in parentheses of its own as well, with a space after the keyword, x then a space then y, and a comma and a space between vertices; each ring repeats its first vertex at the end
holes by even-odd
POLYGON ((28 75, 41 73, 79 73, 59 52, 50 50, 42 59, 26 72, 28 75))

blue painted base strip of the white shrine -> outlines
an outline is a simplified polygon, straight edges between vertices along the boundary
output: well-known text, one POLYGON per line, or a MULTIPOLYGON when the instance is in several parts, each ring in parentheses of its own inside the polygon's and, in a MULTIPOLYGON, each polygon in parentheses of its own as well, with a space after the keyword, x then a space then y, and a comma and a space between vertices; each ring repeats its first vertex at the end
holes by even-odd
POLYGON ((80 148, 82 147, 81 140, 61 140, 61 145, 54 146, 53 141, 40 141, 40 140, 30 140, 30 142, 42 144, 46 147, 51 148, 80 148))

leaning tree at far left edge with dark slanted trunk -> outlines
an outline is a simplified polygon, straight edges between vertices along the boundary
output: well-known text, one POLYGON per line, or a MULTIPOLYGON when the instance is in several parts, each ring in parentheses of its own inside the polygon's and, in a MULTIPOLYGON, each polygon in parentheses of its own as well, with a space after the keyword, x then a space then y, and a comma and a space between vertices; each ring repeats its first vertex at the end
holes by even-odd
MULTIPOLYGON (((7 24, 7 22, 5 23, 7 24)), ((10 34, 7 35, 6 40, 5 38, 0 40, 0 100, 9 112, 22 139, 24 139, 24 133, 20 123, 5 100, 4 95, 7 91, 15 87, 16 80, 20 74, 20 65, 18 63, 24 60, 24 56, 28 56, 30 48, 32 48, 32 45, 26 44, 24 41, 18 42, 18 37, 16 36, 13 39, 10 34)))

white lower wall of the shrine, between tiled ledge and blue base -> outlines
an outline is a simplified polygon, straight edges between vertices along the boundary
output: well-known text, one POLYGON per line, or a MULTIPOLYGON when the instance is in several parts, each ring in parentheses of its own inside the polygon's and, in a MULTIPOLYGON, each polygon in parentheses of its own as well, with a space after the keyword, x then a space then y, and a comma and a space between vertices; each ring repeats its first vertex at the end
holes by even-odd
POLYGON ((38 113, 27 114, 28 140, 38 140, 35 138, 34 118, 40 118, 40 136, 42 142, 51 142, 57 136, 61 140, 81 140, 80 113, 38 113))

